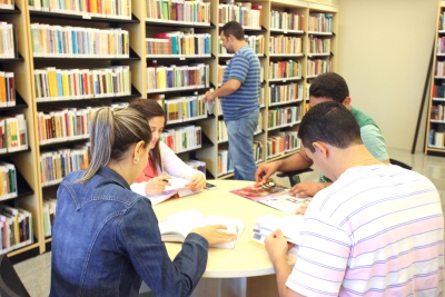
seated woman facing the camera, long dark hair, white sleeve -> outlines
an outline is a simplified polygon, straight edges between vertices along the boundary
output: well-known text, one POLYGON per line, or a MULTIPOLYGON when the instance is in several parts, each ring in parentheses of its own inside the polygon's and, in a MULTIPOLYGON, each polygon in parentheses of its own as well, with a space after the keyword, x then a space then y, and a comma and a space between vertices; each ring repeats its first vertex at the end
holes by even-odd
POLYGON ((169 176, 188 179, 188 187, 192 191, 201 190, 206 186, 206 176, 199 170, 185 164, 176 154, 159 141, 160 133, 166 125, 164 109, 156 100, 137 99, 130 103, 147 119, 151 129, 150 156, 148 165, 138 176, 131 189, 140 195, 155 195, 164 191, 170 179, 169 176))

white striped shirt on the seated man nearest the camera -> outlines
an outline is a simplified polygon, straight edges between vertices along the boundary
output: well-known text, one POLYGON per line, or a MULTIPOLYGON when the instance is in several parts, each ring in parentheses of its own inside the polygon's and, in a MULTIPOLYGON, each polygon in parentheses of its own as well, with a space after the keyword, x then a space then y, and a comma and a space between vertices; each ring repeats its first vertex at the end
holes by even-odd
POLYGON ((353 167, 310 202, 286 285, 305 296, 442 296, 443 239, 441 199, 426 177, 353 167))

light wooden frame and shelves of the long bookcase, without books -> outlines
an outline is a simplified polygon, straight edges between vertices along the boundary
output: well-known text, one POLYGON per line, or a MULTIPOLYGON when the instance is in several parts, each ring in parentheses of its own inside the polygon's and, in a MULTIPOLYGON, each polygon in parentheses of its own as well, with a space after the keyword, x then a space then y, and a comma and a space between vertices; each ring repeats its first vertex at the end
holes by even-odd
MULTIPOLYGON (((9 205, 24 208, 32 212, 33 216, 33 232, 34 244, 9 253, 10 256, 36 251, 44 253, 50 242, 50 237, 44 237, 44 227, 42 218, 43 198, 56 197, 59 179, 53 181, 42 181, 40 176, 40 156, 49 150, 58 150, 60 148, 73 148, 86 140, 80 139, 59 139, 53 142, 39 142, 38 129, 38 112, 50 111, 53 109, 80 108, 80 107, 99 107, 122 101, 130 102, 135 98, 155 99, 164 96, 165 100, 170 100, 176 97, 186 97, 194 95, 204 95, 207 90, 218 86, 218 65, 225 65, 230 58, 230 55, 218 53, 218 38, 221 28, 218 19, 218 6, 228 3, 229 1, 211 1, 204 0, 205 3, 210 3, 210 21, 206 23, 190 21, 171 21, 157 20, 148 18, 147 0, 131 0, 131 13, 126 18, 95 16, 91 13, 67 13, 66 11, 36 10, 30 8, 27 0, 16 0, 16 9, 0 9, 2 21, 13 23, 16 27, 16 37, 18 40, 19 56, 11 59, 0 58, 0 71, 13 71, 16 75, 17 87, 17 106, 0 108, 0 115, 7 113, 23 113, 28 122, 28 142, 30 149, 23 151, 14 151, 12 154, 0 155, 0 159, 11 160, 20 172, 20 196, 6 201, 9 205), (32 52, 32 32, 31 23, 47 23, 50 26, 71 26, 96 29, 115 29, 121 28, 129 32, 130 55, 128 58, 101 58, 101 57, 33 57, 32 52), (211 52, 205 56, 149 56, 146 52, 146 38, 154 38, 156 33, 168 31, 191 31, 194 33, 206 33, 211 37, 211 52), (167 90, 149 90, 147 68, 157 61, 159 66, 187 66, 189 63, 204 63, 209 66, 209 86, 205 88, 179 88, 167 90), (57 98, 41 99, 36 95, 36 69, 47 67, 56 67, 57 69, 92 69, 106 68, 109 66, 126 66, 131 71, 131 91, 123 96, 102 96, 95 98, 57 98), (22 186, 23 185, 23 186, 22 186)), ((274 156, 267 156, 267 139, 278 132, 296 132, 299 121, 278 127, 268 127, 268 113, 271 109, 298 107, 300 116, 307 108, 307 88, 310 80, 316 75, 308 76, 307 65, 314 59, 329 59, 332 61, 332 70, 336 69, 336 48, 338 34, 338 7, 317 3, 313 1, 300 0, 253 0, 241 1, 250 2, 254 6, 261 6, 261 23, 255 27, 246 27, 247 36, 261 36, 264 38, 264 51, 258 55, 264 73, 261 82, 264 103, 260 108, 261 126, 258 133, 254 136, 255 141, 263 145, 263 154, 257 164, 269 162, 295 154, 297 149, 291 151, 283 151, 274 156), (299 13, 303 16, 301 28, 277 28, 271 26, 271 11, 299 13), (309 17, 312 13, 328 13, 332 16, 333 27, 332 32, 316 32, 309 30, 309 17), (269 52, 270 37, 284 36, 287 38, 301 39, 301 52, 271 53, 269 52), (309 36, 316 36, 319 39, 330 40, 330 50, 325 53, 310 53, 308 50, 309 36), (269 63, 277 61, 296 61, 301 65, 298 76, 271 78, 269 77, 269 63), (303 95, 298 100, 289 102, 269 103, 271 85, 283 86, 288 83, 301 85, 303 95)), ((445 6, 444 6, 445 7, 445 6)), ((437 102, 441 102, 439 100, 437 102)), ((218 151, 227 150, 228 141, 218 142, 218 120, 222 119, 219 116, 219 106, 214 106, 214 116, 202 118, 191 118, 184 122, 168 125, 166 128, 176 128, 185 125, 195 125, 201 127, 202 143, 200 148, 190 149, 178 154, 182 160, 198 159, 206 162, 207 176, 216 179, 227 179, 233 177, 233 172, 220 175, 218 174, 218 151)), ((436 125, 436 123, 434 123, 436 125)), ((432 148, 437 150, 437 148, 432 148)), ((441 151, 441 150, 439 150, 441 151)), ((1 204, 1 202, 0 202, 1 204)))

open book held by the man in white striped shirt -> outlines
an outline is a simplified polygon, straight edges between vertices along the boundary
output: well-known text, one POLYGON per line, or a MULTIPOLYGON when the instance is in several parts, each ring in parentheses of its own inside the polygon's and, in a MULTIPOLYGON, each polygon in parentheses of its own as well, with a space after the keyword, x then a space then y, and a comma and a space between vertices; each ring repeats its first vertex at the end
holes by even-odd
MULTIPOLYGON (((283 235, 288 242, 298 245, 303 217, 303 215, 286 216, 280 218, 273 215, 261 216, 255 220, 251 242, 254 245, 264 247, 264 240, 266 237, 279 228, 281 229, 283 235)), ((297 251, 297 246, 294 246, 289 249, 288 255, 296 257, 297 251)))

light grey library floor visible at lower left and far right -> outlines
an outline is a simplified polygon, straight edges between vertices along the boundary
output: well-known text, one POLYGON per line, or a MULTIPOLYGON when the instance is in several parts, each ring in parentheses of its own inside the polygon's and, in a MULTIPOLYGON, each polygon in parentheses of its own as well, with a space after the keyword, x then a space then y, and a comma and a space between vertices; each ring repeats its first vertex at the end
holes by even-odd
MULTIPOLYGON (((428 177, 438 189, 442 198, 442 209, 445 212, 445 158, 425 156, 423 152, 411 155, 408 150, 388 149, 393 159, 413 166, 413 170, 428 177)), ((303 180, 316 180, 318 174, 303 176, 303 180)), ((32 297, 49 295, 51 254, 46 253, 38 257, 14 265, 14 268, 32 297)), ((142 296, 142 295, 141 295, 142 296)), ((144 296, 147 296, 146 294, 144 296)))

